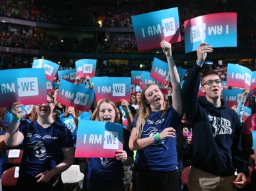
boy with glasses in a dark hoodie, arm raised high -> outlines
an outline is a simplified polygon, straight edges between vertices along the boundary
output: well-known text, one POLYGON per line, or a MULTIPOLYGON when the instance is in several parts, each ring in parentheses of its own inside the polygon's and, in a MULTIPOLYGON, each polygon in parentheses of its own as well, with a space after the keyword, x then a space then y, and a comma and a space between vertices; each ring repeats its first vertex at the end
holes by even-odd
POLYGON ((188 190, 236 190, 246 185, 247 158, 242 150, 242 124, 236 111, 221 99, 223 84, 214 71, 200 73, 208 52, 213 48, 201 43, 197 64, 189 71, 182 87, 184 112, 193 126, 191 170, 188 190), (235 176, 237 171, 238 176, 235 176))

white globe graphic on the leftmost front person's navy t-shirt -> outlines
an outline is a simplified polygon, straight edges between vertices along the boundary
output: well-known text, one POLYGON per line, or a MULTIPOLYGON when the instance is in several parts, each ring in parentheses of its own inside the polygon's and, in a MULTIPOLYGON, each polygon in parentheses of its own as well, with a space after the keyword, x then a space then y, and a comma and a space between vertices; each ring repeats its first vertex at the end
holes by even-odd
POLYGON ((48 157, 52 157, 50 153, 46 153, 46 148, 42 141, 27 143, 27 147, 33 147, 33 154, 35 158, 38 158, 39 160, 45 160, 48 157))

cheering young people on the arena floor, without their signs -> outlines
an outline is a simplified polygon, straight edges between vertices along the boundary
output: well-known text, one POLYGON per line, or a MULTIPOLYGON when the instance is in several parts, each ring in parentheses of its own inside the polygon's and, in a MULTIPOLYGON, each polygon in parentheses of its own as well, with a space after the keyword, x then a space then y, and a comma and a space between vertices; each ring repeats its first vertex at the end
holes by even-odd
MULTIPOLYGON (((244 97, 248 93, 254 99, 252 115, 243 122, 241 108, 237 113, 221 98, 221 76, 203 70, 207 55, 213 51, 211 46, 199 45, 195 65, 182 86, 171 44, 162 41, 160 46, 171 79, 171 88, 164 84, 171 90, 167 94, 157 84, 146 84, 131 95, 131 103, 101 99, 87 112, 59 103, 56 87, 46 95, 47 103, 33 106, 26 120, 20 116, 23 103, 3 109, 1 116, 6 123, 0 121, 2 143, 24 150, 18 190, 65 189, 61 173, 80 162, 74 157, 79 120, 122 124, 124 137, 123 150, 117 150, 114 158, 87 158, 81 170, 85 174, 83 190, 125 190, 124 167, 132 171, 134 191, 255 189, 251 144, 252 131, 256 130, 256 90, 244 88, 244 97), (198 97, 199 87, 204 97, 198 97), (124 123, 124 117, 128 122, 124 123), (190 166, 188 185, 181 186, 180 172, 186 166, 190 166), (246 186, 249 166, 253 167, 250 187, 246 186), (55 184, 51 185, 53 179, 55 184)), ((75 84, 93 88, 90 77, 76 78, 75 84)))

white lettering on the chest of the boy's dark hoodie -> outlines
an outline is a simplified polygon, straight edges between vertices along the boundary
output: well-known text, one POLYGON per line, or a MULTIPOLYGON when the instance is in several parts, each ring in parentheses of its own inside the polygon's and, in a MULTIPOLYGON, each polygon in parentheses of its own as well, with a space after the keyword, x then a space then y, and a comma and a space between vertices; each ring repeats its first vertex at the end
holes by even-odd
POLYGON ((216 135, 231 135, 233 130, 231 122, 225 118, 216 118, 216 116, 208 115, 210 124, 212 124, 212 133, 216 135))

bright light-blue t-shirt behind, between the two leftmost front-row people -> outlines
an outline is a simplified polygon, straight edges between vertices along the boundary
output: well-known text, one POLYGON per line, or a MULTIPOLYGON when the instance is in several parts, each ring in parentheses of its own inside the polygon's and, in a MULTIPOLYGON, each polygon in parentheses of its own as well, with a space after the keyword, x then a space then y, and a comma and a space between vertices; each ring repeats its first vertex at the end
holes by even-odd
MULTIPOLYGON (((72 133, 72 139, 74 142, 74 147, 76 147, 76 137, 77 137, 77 130, 76 130, 76 124, 74 123, 74 118, 69 114, 68 116, 64 117, 65 113, 62 113, 59 116, 59 121, 64 124, 70 132, 72 133)), ((83 111, 80 116, 77 116, 79 120, 90 120, 91 119, 91 113, 87 111, 83 111)))

